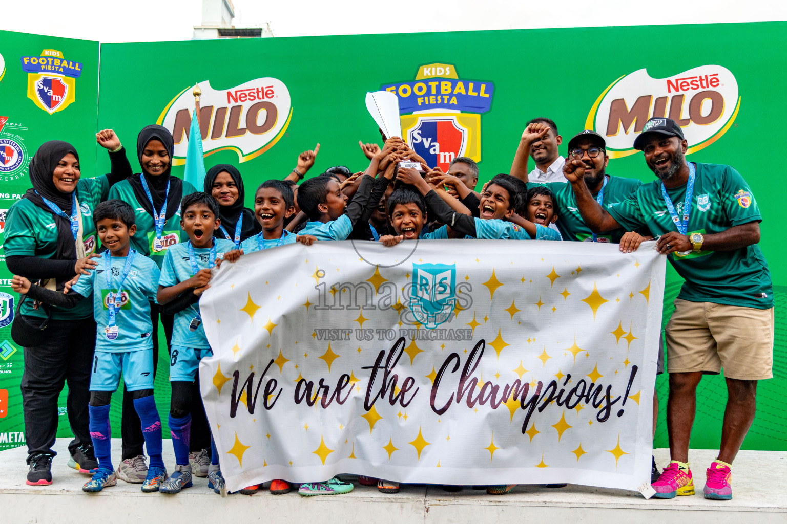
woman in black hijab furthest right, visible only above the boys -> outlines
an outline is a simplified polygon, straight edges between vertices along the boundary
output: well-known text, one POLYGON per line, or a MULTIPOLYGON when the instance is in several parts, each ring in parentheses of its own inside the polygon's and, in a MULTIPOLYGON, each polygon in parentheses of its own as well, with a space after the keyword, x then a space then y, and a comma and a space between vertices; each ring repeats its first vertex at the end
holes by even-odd
POLYGON ((221 226, 214 233, 216 238, 232 240, 237 249, 243 240, 262 231, 254 211, 243 207, 246 192, 243 178, 235 166, 220 163, 211 167, 205 174, 204 191, 219 201, 221 226))

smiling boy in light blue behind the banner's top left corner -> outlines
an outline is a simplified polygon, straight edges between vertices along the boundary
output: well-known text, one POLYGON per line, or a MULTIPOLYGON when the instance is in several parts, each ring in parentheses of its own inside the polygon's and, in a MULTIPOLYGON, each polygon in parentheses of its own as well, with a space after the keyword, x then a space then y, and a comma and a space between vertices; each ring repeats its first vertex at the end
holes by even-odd
POLYGON ((254 214, 262 231, 241 243, 244 254, 300 242, 307 246, 317 240, 312 235, 296 235, 284 229, 284 219, 295 214, 295 197, 289 184, 281 180, 264 181, 254 195, 254 214))

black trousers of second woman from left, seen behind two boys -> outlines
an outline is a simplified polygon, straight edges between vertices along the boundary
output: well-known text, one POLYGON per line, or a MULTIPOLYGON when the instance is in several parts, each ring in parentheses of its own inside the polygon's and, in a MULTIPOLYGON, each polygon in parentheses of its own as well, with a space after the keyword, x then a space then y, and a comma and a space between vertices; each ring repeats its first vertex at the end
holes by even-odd
MULTIPOLYGON (((167 339, 167 353, 172 352, 172 328, 175 322, 174 315, 159 313, 157 304, 150 302, 150 321, 153 322, 153 377, 156 376, 158 367, 158 321, 161 318, 161 325, 164 326, 164 336, 167 339)), ((202 405, 202 397, 199 393, 199 375, 194 380, 192 387, 194 401, 191 409, 191 439, 190 451, 199 451, 210 448, 210 428, 208 419, 205 416, 205 407, 202 405)), ((160 413, 164 418, 164 413, 160 413)), ((142 436, 142 423, 139 421, 134 409, 134 396, 123 386, 123 413, 121 415, 120 433, 123 438, 123 460, 132 459, 137 455, 142 455, 142 446, 145 438, 142 436)))

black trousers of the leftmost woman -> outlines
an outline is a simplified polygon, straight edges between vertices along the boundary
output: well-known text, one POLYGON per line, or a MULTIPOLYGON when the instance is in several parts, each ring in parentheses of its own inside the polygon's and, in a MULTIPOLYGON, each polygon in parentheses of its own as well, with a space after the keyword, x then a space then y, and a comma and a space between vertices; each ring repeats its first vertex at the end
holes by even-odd
POLYGON ((46 341, 40 346, 24 348, 22 372, 22 409, 24 438, 28 444, 28 462, 38 453, 56 454, 52 450, 57 436, 57 398, 68 383, 68 423, 74 439, 68 444, 73 455, 80 445, 90 445, 91 367, 96 343, 96 323, 92 318, 51 320, 46 341))

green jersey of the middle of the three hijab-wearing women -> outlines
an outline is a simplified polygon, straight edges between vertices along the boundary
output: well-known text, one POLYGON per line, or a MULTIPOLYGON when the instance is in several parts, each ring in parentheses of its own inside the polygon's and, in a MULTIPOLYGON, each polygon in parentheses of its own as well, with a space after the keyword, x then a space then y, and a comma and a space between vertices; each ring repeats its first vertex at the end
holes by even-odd
MULTIPOLYGON (((195 191, 197 190, 194 189, 193 185, 187 181, 183 181, 183 196, 195 191)), ((127 180, 124 180, 113 185, 112 189, 109 191, 109 198, 124 200, 130 203, 131 207, 134 207, 137 232, 134 236, 131 236, 131 247, 137 250, 141 255, 145 255, 152 259, 153 262, 156 262, 159 269, 161 269, 161 264, 164 263, 164 255, 167 254, 167 248, 188 240, 186 232, 180 229, 180 211, 178 211, 164 223, 164 231, 161 233, 161 240, 164 241, 164 249, 161 251, 153 251, 153 240, 156 239, 156 228, 153 223, 153 217, 150 216, 150 214, 145 211, 145 208, 142 207, 142 204, 139 203, 131 184, 127 180)))

